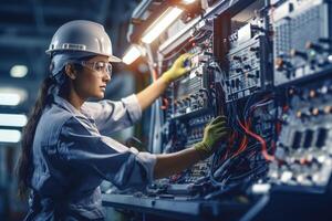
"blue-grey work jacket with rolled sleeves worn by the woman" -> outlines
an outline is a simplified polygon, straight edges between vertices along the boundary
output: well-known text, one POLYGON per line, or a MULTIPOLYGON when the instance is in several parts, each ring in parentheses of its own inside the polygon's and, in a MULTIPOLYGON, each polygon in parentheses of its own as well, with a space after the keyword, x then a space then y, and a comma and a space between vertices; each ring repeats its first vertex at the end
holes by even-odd
POLYGON ((53 96, 34 135, 25 220, 103 219, 103 180, 120 189, 144 189, 153 180, 155 155, 108 137, 141 116, 136 95, 120 102, 85 102, 80 110, 53 96))

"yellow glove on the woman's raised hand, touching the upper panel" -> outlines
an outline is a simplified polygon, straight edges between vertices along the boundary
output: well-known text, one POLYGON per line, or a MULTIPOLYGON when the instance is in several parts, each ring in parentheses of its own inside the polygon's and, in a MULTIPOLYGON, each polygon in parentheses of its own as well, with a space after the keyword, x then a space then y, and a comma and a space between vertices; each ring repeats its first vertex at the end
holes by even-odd
POLYGON ((188 60, 190 56, 193 56, 193 54, 186 53, 177 57, 177 60, 174 62, 172 67, 168 71, 166 71, 162 75, 162 77, 167 83, 170 83, 177 80, 178 77, 180 77, 181 75, 184 75, 185 73, 187 73, 188 71, 190 71, 191 69, 190 66, 185 66, 186 60, 188 60))

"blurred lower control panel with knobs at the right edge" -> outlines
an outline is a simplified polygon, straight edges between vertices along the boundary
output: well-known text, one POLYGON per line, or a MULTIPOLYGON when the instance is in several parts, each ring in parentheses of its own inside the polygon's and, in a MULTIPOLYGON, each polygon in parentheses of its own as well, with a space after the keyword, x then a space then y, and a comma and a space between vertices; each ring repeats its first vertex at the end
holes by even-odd
POLYGON ((332 171, 332 82, 318 81, 289 88, 276 152, 270 165, 276 183, 326 187, 332 171))

